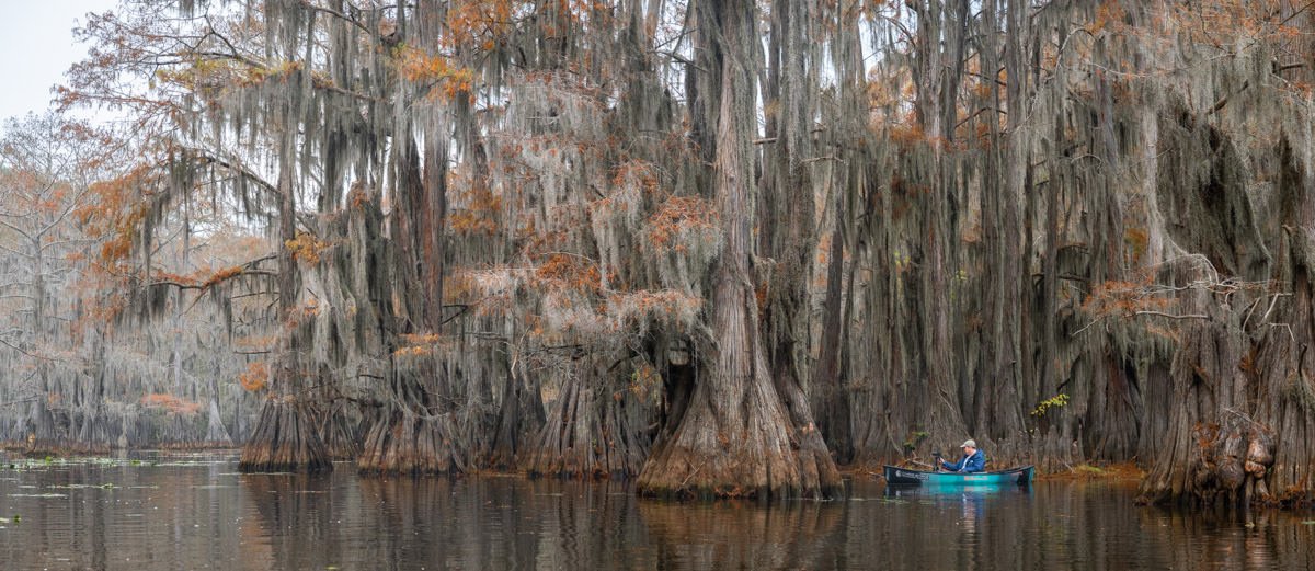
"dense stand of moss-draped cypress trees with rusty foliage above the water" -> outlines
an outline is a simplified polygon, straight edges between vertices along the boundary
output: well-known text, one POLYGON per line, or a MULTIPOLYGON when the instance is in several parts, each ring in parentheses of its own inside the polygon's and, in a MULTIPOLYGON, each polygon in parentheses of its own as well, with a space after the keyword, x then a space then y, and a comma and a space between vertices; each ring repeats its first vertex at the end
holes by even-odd
POLYGON ((125 0, 60 91, 133 121, 54 174, 101 293, 0 213, 0 430, 757 497, 972 437, 1310 501, 1307 8, 125 0))

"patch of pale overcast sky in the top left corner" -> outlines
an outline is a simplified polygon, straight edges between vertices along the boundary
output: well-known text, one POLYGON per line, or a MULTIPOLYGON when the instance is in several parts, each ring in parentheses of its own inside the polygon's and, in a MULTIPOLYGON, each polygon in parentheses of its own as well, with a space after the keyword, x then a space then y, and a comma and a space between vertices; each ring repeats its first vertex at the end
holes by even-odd
MULTIPOLYGON (((50 87, 87 55, 72 28, 87 12, 105 12, 117 0, 0 0, 0 124, 50 107, 50 87)), ((0 126, 3 129, 3 126, 0 126)))

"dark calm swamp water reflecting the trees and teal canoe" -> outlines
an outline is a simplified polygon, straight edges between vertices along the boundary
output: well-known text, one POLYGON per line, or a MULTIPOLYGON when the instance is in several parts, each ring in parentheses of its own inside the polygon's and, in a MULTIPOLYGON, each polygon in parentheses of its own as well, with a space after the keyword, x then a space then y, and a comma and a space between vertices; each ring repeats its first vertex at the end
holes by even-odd
POLYGON ((676 504, 621 483, 238 474, 231 454, 9 459, 0 570, 1315 568, 1315 514, 1132 496, 855 482, 842 501, 676 504))

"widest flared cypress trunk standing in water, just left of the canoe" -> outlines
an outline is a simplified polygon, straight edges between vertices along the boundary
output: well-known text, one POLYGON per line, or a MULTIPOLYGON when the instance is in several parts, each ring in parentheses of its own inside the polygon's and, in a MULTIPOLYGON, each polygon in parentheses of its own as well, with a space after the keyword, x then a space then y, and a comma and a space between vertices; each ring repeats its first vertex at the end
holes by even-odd
POLYGON ((713 275, 707 367, 671 438, 639 475, 639 491, 663 496, 825 496, 840 484, 801 393, 780 393, 768 376, 751 266, 752 5, 696 3, 698 41, 709 70, 700 93, 715 117, 714 196, 725 246, 713 275), (805 421, 805 422, 801 422, 805 421))

